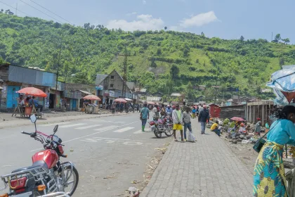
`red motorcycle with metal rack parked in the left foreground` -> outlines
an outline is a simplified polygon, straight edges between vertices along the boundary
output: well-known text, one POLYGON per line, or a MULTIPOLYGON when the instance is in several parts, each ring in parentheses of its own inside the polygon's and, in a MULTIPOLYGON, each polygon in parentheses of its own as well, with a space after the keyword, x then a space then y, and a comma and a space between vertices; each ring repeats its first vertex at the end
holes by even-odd
POLYGON ((55 193, 72 196, 77 189, 79 174, 71 162, 63 163, 60 160, 60 157, 67 158, 67 155, 64 155, 62 139, 55 135, 58 132, 58 125, 54 127, 53 134, 47 135, 37 131, 35 115, 31 115, 30 119, 35 125, 35 132, 21 133, 40 141, 44 150, 32 156, 31 166, 1 176, 4 188, 0 190, 9 187, 9 193, 0 196, 55 196, 55 193))

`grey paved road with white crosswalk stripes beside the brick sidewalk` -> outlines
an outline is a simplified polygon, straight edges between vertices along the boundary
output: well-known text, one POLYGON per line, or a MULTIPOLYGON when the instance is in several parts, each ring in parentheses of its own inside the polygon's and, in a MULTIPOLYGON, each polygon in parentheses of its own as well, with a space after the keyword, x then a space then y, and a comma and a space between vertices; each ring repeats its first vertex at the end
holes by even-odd
MULTIPOLYGON (((29 120, 28 120, 29 121, 29 120)), ((79 186, 74 196, 117 196, 142 180, 146 163, 170 138, 156 139, 151 132, 140 132, 138 113, 74 120, 38 125, 37 129, 56 133, 65 144, 65 153, 79 171, 79 186), (104 177, 111 177, 104 179, 104 177)), ((34 125, 0 129, 0 174, 32 164, 32 155, 39 151, 39 141, 20 134, 34 132, 34 125)), ((147 127, 147 131, 150 129, 147 127)))

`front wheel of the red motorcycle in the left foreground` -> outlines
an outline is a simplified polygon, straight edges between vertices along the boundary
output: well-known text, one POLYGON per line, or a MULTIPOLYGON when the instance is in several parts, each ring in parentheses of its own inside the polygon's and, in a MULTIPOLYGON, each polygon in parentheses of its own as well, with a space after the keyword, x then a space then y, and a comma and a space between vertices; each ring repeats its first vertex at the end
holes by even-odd
MULTIPOLYGON (((67 179, 67 176, 70 176, 71 174, 71 166, 67 166, 67 168, 65 168, 64 172, 64 179, 67 179)), ((74 194, 74 191, 76 191, 78 183, 79 183, 79 173, 78 170, 76 169, 76 167, 73 166, 73 172, 72 172, 72 176, 70 177, 69 180, 67 180, 67 183, 65 183, 64 185, 64 190, 68 188, 68 186, 70 186, 70 189, 68 191, 65 191, 65 193, 67 193, 69 196, 72 196, 74 194), (72 180, 71 177, 73 177, 74 179, 72 180), (71 186, 72 185, 72 186, 71 186)))

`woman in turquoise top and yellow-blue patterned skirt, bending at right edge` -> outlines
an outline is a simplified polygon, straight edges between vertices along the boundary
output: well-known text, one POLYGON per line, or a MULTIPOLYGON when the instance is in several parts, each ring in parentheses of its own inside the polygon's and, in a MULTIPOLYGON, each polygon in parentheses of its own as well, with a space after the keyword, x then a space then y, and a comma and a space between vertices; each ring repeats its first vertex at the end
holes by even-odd
POLYGON ((284 106, 276 117, 254 167, 253 195, 256 197, 288 196, 282 153, 284 144, 295 146, 295 107, 284 106))

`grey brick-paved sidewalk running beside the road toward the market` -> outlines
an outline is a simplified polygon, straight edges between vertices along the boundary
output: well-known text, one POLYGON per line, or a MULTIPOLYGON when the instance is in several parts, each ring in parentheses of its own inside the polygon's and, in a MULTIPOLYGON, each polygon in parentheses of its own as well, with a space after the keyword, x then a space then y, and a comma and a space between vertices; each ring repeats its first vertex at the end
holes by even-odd
POLYGON ((141 196, 253 196, 252 172, 209 129, 192 120, 195 143, 172 142, 141 196))

